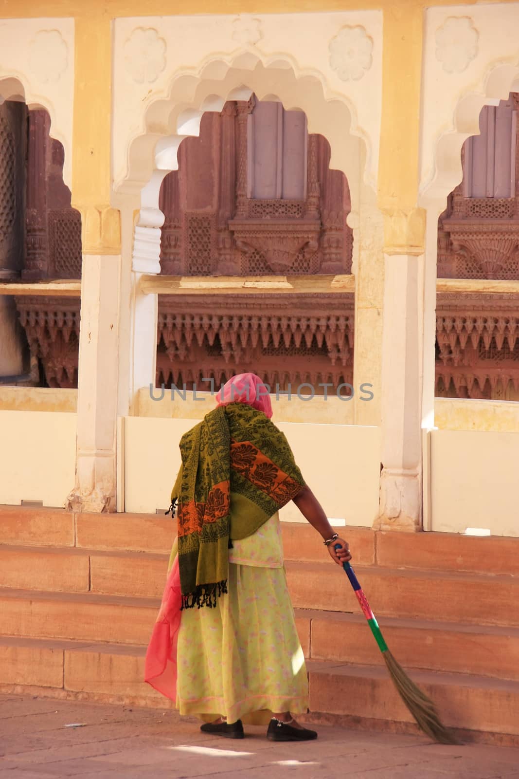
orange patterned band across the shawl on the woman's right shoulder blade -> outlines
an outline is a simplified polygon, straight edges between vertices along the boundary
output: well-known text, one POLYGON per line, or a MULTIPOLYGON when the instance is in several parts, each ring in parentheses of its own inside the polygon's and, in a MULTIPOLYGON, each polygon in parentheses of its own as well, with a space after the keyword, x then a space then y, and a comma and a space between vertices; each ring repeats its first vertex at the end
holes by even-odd
POLYGON ((280 505, 300 492, 301 485, 250 441, 231 441, 230 467, 280 505))

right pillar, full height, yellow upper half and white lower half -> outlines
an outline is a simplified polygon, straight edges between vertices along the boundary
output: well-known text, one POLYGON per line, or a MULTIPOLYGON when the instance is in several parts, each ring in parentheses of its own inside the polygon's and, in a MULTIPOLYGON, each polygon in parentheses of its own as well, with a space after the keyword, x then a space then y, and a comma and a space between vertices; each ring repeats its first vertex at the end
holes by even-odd
MULTIPOLYGON (((422 527, 423 258, 417 208, 423 9, 384 9, 378 205, 384 213, 382 529, 422 527)), ((433 359, 427 354, 426 359, 433 359)))

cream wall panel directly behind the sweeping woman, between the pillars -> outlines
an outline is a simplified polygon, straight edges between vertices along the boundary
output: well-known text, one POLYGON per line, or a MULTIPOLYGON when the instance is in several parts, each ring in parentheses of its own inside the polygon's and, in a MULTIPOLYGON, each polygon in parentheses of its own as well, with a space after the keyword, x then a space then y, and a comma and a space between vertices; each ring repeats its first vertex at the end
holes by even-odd
MULTIPOLYGON (((178 442, 192 425, 192 419, 125 419, 126 511, 155 513, 169 506, 181 464, 178 442)), ((370 527, 378 512, 379 429, 290 422, 279 428, 328 516, 370 527)), ((304 521, 293 504, 282 510, 282 519, 304 521)))

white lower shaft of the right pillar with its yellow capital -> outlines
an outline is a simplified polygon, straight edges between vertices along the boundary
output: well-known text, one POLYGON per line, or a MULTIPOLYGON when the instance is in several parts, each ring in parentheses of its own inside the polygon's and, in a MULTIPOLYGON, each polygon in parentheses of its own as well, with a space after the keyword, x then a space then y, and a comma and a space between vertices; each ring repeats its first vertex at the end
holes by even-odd
POLYGON ((409 209, 384 216, 379 525, 421 530, 423 361, 434 360, 430 348, 426 354, 423 348, 425 213, 409 209))

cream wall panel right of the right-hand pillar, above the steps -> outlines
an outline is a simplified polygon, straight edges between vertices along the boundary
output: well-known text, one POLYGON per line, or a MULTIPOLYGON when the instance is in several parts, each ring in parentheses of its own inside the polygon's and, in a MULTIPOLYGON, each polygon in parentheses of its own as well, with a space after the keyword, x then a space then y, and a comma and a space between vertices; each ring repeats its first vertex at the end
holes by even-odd
POLYGON ((431 530, 519 536, 519 433, 433 430, 430 452, 431 530))

